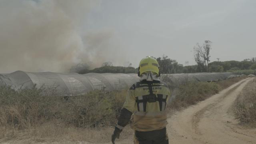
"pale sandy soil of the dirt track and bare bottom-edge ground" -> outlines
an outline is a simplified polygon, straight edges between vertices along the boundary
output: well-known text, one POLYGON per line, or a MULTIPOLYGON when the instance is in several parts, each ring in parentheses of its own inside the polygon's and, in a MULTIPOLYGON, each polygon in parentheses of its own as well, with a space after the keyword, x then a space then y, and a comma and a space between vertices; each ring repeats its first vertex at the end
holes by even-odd
MULTIPOLYGON (((168 118, 170 144, 256 144, 256 129, 238 125, 232 115, 232 104, 246 84, 254 78, 246 78, 222 90, 194 106, 190 106, 168 118)), ((122 135, 122 134, 121 134, 122 135)), ((133 144, 133 136, 116 140, 116 144, 133 144)), ((1 142, 0 142, 1 143, 1 142)), ((89 142, 33 142, 15 140, 3 144, 96 144, 89 142)), ((111 144, 108 142, 106 144, 111 144)))

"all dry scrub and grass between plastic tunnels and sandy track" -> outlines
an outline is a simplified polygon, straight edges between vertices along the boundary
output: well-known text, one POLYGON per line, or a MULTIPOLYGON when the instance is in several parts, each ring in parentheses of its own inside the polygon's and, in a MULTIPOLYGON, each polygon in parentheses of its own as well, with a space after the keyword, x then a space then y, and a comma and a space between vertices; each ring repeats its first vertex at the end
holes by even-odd
MULTIPOLYGON (((245 77, 218 82, 185 82, 172 87, 168 112, 196 104, 245 77)), ((0 139, 35 138, 107 142, 120 114, 126 91, 93 91, 83 96, 41 96, 43 88, 0 87, 0 139), (25 133, 24 133, 25 132, 25 133), (23 134, 23 135, 22 135, 23 134)), ((124 130, 122 138, 132 134, 124 130)))

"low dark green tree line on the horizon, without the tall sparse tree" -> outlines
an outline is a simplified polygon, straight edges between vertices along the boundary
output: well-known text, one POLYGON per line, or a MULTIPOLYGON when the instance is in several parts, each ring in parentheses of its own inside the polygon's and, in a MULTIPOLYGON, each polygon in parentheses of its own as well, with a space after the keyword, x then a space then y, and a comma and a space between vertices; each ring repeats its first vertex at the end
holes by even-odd
MULTIPOLYGON (((256 58, 245 59, 241 62, 231 60, 225 62, 210 62, 208 63, 208 70, 204 66, 200 66, 198 64, 192 66, 183 66, 182 64, 178 64, 176 60, 172 60, 168 58, 168 56, 163 56, 156 58, 160 65, 160 72, 162 74, 179 74, 179 73, 196 73, 196 72, 227 72, 230 70, 256 70, 256 58)), ((87 73, 138 73, 138 68, 134 68, 132 66, 124 67, 124 66, 102 66, 100 68, 94 68, 92 70, 85 68, 78 68, 76 71, 79 74, 87 74, 87 73)))

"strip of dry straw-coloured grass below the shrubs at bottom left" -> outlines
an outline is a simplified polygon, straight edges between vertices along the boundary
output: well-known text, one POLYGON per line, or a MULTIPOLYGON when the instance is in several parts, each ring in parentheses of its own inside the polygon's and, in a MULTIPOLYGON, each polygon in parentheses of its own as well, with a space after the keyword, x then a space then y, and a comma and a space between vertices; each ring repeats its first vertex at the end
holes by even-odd
MULTIPOLYGON (((110 142, 113 132, 113 127, 102 128, 75 128, 72 126, 59 126, 54 123, 46 123, 33 128, 24 130, 5 129, 6 136, 2 140, 21 140, 30 139, 37 142, 55 142, 55 141, 85 141, 85 142, 110 142)), ((121 138, 128 138, 133 135, 133 130, 126 128, 121 135, 121 138)))

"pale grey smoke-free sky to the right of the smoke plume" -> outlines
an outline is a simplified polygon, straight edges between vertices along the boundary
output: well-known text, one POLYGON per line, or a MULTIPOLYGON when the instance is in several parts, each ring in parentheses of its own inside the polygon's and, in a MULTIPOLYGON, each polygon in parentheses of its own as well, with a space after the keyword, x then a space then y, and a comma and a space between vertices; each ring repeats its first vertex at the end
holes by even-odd
POLYGON ((195 64, 193 47, 211 40, 211 61, 256 57, 255 0, 105 0, 86 28, 109 28, 128 61, 147 55, 195 64))

